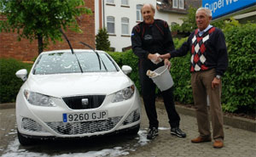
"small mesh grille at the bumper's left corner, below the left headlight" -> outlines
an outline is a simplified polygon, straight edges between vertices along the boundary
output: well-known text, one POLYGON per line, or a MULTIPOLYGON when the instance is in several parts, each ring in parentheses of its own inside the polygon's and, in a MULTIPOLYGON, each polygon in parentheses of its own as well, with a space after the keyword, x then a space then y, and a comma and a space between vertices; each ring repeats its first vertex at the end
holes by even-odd
POLYGON ((47 132, 37 121, 30 118, 22 118, 21 128, 29 132, 47 132))

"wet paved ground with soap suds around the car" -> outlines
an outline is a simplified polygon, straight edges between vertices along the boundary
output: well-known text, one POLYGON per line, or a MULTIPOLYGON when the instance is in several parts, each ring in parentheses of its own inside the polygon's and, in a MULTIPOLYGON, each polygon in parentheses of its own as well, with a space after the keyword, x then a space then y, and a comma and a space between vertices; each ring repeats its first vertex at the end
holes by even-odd
MULTIPOLYGON (((224 148, 213 149, 212 143, 191 143, 197 137, 195 113, 185 112, 177 106, 181 116, 180 127, 187 133, 186 138, 175 137, 170 126, 164 104, 157 104, 160 121, 159 136, 154 140, 146 139, 148 119, 142 109, 141 129, 137 136, 116 135, 112 137, 81 139, 78 141, 46 141, 30 147, 20 146, 16 137, 15 109, 0 108, 0 156, 90 156, 88 152, 112 149, 117 153, 98 156, 127 157, 254 157, 256 154, 256 133, 224 125, 224 148), (116 151, 117 150, 117 151, 116 151)), ((236 122, 236 121, 235 121, 236 122)), ((96 153, 94 156, 97 156, 96 153)))

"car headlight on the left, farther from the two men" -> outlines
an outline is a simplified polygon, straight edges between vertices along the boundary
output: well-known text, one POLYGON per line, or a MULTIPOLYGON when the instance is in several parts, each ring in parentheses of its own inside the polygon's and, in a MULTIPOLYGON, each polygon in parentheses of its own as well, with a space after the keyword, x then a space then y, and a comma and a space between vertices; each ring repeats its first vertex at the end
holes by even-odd
POLYGON ((24 96, 26 100, 33 105, 46 106, 46 107, 56 106, 53 100, 47 95, 43 95, 40 93, 33 93, 31 91, 24 90, 24 96))

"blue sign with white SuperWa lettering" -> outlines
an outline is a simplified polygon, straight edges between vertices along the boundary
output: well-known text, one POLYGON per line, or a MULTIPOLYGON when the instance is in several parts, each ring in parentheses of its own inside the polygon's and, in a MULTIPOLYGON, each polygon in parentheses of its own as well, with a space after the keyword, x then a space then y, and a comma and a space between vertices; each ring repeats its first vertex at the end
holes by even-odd
POLYGON ((202 7, 212 11, 212 20, 256 4, 256 0, 202 0, 202 7))

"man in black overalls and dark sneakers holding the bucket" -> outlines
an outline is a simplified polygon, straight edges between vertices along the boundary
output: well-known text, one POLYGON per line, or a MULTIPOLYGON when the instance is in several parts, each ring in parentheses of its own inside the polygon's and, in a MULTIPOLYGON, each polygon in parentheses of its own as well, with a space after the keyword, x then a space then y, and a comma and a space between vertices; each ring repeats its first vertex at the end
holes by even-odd
MULTIPOLYGON (((158 135, 159 121, 155 109, 156 86, 146 73, 147 70, 155 70, 164 64, 170 68, 169 59, 162 61, 157 57, 174 49, 168 24, 164 20, 154 20, 154 10, 152 4, 144 4, 141 9, 143 22, 134 26, 131 33, 132 50, 139 58, 138 66, 143 102, 149 120, 148 139, 153 139, 158 135)), ((186 134, 179 129, 180 117, 175 109, 172 91, 171 87, 162 92, 171 133, 177 137, 186 137, 186 134)))

